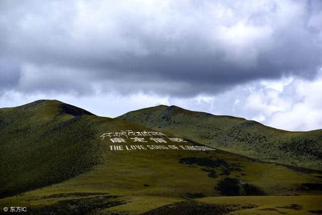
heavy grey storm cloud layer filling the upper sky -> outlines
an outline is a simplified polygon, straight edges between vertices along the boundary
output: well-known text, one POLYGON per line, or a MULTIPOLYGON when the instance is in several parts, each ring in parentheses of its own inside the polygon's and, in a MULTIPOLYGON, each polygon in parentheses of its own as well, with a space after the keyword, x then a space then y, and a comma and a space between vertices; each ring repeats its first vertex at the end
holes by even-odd
POLYGON ((320 1, 1 1, 0 88, 196 95, 309 79, 322 66, 321 11, 320 1))

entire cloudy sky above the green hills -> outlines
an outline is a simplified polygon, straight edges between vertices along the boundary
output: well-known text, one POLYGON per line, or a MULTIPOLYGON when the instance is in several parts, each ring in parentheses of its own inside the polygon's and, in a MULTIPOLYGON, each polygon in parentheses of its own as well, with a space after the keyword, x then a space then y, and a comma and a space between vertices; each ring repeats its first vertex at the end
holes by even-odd
POLYGON ((158 104, 322 128, 322 1, 0 1, 0 108, 158 104))

